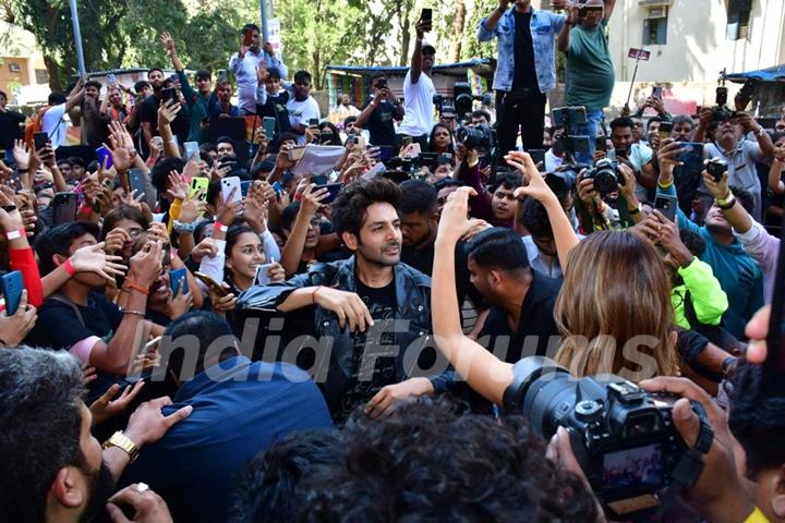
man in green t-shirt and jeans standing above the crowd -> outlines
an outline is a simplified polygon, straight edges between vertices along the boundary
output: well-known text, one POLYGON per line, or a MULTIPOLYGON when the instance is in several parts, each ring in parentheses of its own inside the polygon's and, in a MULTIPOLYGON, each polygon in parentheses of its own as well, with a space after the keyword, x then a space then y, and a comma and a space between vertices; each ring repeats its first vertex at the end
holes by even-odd
POLYGON ((589 136, 590 151, 578 160, 591 163, 603 109, 611 102, 616 74, 605 27, 616 0, 588 0, 573 5, 558 37, 558 49, 567 54, 567 106, 583 106, 587 123, 570 125, 571 135, 589 136))

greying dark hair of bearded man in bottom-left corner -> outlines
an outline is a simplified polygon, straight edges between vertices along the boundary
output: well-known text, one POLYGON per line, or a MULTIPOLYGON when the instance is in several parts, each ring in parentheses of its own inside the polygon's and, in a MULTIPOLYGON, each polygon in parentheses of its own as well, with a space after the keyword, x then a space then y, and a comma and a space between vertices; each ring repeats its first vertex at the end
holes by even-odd
POLYGON ((80 364, 68 352, 0 350, 3 521, 46 521, 57 473, 86 464, 80 445, 83 393, 80 364))

